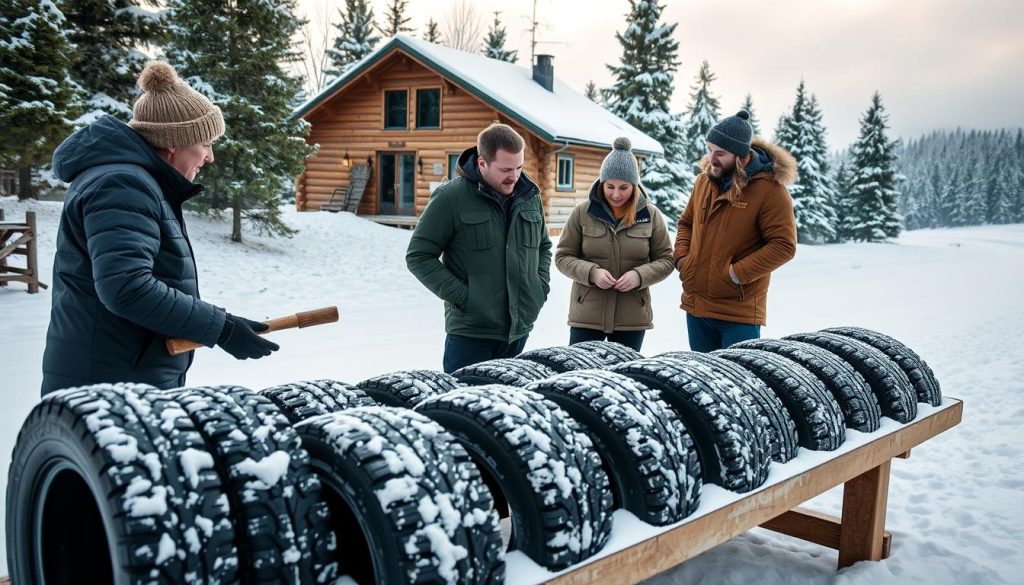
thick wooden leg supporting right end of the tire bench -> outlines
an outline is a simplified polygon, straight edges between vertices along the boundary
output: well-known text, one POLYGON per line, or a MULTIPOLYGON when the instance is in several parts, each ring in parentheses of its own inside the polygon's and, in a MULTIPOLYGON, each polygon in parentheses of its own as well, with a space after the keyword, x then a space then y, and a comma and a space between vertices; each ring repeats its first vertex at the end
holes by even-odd
POLYGON ((884 552, 886 501, 892 460, 843 486, 843 520, 839 535, 839 568, 859 560, 881 560, 884 552))

